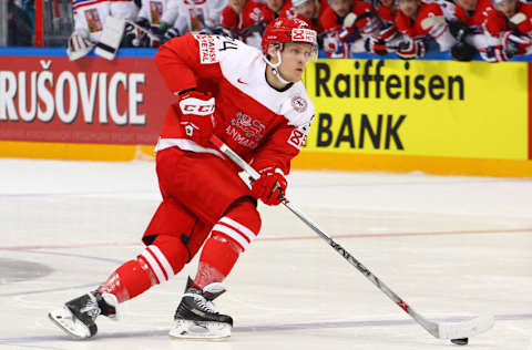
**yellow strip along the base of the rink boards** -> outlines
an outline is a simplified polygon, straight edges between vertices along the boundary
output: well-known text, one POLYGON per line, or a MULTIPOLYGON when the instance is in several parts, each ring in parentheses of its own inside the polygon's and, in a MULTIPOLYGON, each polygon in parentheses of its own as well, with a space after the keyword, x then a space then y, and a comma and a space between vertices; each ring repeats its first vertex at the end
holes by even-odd
MULTIPOLYGON (((0 157, 106 161, 151 161, 154 146, 0 141, 0 157)), ((303 151, 294 169, 424 172, 438 175, 532 177, 532 161, 375 155, 303 151)))

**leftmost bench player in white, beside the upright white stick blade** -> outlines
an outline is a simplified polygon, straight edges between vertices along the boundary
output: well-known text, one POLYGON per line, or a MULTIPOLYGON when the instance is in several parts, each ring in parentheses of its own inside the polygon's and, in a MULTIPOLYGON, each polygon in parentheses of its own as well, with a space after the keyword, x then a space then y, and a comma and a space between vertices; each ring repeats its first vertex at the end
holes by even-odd
POLYGON ((74 31, 69 38, 66 53, 73 61, 88 54, 100 42, 108 17, 134 20, 139 8, 134 0, 73 0, 72 11, 74 31))

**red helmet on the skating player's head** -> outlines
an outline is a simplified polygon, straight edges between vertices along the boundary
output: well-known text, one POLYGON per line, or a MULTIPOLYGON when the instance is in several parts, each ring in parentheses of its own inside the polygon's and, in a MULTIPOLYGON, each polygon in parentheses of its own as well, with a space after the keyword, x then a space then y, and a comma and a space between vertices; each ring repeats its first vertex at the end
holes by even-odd
POLYGON ((277 18, 269 22, 263 33, 263 53, 268 51, 270 43, 301 42, 318 45, 316 31, 299 19, 277 18))

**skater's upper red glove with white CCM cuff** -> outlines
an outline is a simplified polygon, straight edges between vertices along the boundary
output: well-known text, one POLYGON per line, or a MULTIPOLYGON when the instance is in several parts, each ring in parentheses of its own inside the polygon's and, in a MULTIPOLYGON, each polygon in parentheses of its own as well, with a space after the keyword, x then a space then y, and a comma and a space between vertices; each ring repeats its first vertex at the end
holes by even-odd
POLYGON ((208 138, 214 130, 214 97, 211 93, 204 94, 190 91, 180 96, 181 124, 185 137, 201 146, 208 146, 208 138))

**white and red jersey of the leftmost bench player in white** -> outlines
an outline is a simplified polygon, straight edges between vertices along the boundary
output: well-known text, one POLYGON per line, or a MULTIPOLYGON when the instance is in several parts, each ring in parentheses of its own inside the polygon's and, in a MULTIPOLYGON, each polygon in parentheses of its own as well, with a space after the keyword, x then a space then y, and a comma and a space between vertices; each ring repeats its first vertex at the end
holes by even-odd
POLYGON ((88 32, 93 42, 100 40, 108 16, 134 20, 139 12, 133 0, 73 0, 74 31, 88 32))

